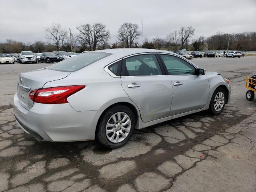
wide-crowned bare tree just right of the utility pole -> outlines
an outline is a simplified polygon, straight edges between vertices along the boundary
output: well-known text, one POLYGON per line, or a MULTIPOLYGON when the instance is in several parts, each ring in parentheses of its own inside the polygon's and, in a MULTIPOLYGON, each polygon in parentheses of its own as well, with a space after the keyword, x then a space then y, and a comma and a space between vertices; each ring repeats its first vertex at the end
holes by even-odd
POLYGON ((106 44, 110 38, 109 30, 101 23, 84 24, 77 27, 79 42, 89 45, 90 50, 96 50, 96 46, 106 44))

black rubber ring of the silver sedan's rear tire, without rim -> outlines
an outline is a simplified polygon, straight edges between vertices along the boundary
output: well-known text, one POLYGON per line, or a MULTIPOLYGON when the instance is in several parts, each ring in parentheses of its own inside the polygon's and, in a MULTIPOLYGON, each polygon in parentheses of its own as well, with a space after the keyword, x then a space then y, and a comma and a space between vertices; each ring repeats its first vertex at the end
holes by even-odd
POLYGON ((100 123, 98 125, 97 137, 98 137, 99 142, 108 148, 111 148, 111 149, 120 148, 120 147, 124 146, 130 140, 130 138, 134 132, 134 129, 135 129, 135 118, 134 118, 134 114, 133 114, 132 110, 130 108, 128 108, 127 106, 117 105, 117 106, 114 106, 114 107, 108 109, 106 112, 104 112, 104 115, 100 119, 100 123), (108 138, 106 136, 105 129, 106 129, 106 124, 108 123, 108 120, 110 119, 110 117, 117 112, 125 112, 126 114, 128 114, 132 124, 131 124, 131 130, 130 130, 128 136, 122 142, 112 143, 108 140, 108 138))

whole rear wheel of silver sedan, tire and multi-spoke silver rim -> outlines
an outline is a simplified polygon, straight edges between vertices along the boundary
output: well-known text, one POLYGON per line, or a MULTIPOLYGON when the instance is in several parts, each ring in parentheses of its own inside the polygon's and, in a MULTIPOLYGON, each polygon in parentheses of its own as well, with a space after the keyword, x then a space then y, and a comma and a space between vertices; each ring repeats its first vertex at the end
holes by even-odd
POLYGON ((130 108, 117 105, 100 119, 97 137, 99 142, 111 149, 124 146, 131 138, 135 128, 135 117, 130 108))

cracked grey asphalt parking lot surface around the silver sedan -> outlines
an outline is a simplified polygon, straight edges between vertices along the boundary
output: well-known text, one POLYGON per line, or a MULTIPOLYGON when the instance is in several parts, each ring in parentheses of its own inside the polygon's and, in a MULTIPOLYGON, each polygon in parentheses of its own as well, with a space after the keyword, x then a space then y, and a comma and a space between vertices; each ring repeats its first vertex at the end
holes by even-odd
POLYGON ((0 65, 0 192, 255 192, 256 99, 246 100, 244 82, 256 74, 256 56, 191 61, 230 80, 222 114, 199 112, 136 130, 116 150, 25 134, 12 113, 18 74, 50 64, 0 65))

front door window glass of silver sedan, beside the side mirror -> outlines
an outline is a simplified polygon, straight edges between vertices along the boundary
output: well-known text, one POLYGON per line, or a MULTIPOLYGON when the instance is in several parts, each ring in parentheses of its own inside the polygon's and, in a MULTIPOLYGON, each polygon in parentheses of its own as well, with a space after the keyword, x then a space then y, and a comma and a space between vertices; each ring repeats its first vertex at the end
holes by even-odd
POLYGON ((184 61, 181 58, 171 56, 171 55, 162 55, 160 57, 164 61, 164 64, 167 68, 169 75, 195 75, 196 69, 184 61))

